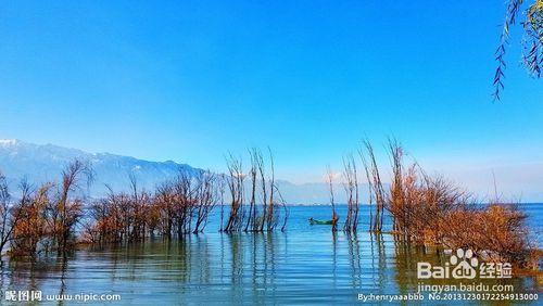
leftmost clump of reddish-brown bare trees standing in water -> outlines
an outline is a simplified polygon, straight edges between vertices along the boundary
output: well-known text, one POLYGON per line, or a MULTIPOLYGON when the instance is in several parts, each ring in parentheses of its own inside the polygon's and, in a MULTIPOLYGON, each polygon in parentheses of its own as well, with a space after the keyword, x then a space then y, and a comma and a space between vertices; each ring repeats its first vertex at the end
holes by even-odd
POLYGON ((24 180, 18 201, 9 208, 9 224, 8 206, 2 205, 2 235, 10 241, 10 253, 36 256, 54 250, 65 255, 73 250, 86 200, 83 184, 88 187, 91 180, 89 165, 77 160, 65 167, 60 183, 46 182, 35 188, 24 180))

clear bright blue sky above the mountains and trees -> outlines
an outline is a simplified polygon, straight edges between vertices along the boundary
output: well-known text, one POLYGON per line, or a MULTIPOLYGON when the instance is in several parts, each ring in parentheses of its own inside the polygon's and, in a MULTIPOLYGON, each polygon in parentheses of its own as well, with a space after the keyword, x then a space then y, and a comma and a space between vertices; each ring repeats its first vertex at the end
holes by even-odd
POLYGON ((2 1, 0 138, 213 169, 269 145, 278 176, 304 182, 362 138, 395 136, 431 170, 484 189, 495 169, 512 193, 543 195, 543 88, 520 66, 518 29, 503 101, 490 98, 504 10, 2 1))

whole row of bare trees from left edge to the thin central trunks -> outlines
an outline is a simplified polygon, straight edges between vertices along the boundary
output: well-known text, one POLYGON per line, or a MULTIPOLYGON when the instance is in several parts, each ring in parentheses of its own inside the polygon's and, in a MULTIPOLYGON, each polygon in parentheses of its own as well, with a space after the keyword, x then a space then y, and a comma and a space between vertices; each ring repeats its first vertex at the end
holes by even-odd
POLYGON ((105 196, 93 200, 87 195, 92 171, 80 161, 68 164, 58 183, 35 187, 23 181, 17 196, 12 196, 0 174, 0 254, 8 248, 14 255, 64 254, 78 241, 104 244, 155 235, 179 239, 202 232, 217 205, 220 231, 285 230, 288 209, 275 181, 272 152, 268 164, 256 149, 250 150, 250 156, 247 174, 241 160, 230 155, 225 175, 180 171, 151 191, 140 188, 130 175, 129 191, 108 188, 105 196), (226 189, 230 205, 225 204, 226 189))

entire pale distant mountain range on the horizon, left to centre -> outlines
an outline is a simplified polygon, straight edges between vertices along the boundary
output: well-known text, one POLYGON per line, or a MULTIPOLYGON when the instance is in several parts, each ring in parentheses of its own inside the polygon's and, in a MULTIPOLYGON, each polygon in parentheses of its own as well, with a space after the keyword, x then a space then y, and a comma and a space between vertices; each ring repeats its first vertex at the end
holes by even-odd
MULTIPOLYGON (((72 161, 89 162, 94 173, 90 188, 92 196, 106 192, 106 184, 115 191, 126 191, 129 175, 134 174, 140 188, 152 190, 161 182, 175 177, 180 169, 195 174, 199 168, 173 161, 150 162, 110 153, 89 153, 53 144, 34 144, 20 140, 0 140, 0 171, 11 188, 26 178, 33 183, 58 181, 62 169, 72 161)), ((294 184, 278 180, 277 184, 289 204, 326 204, 329 191, 326 183, 294 184)), ((342 186, 336 186, 336 201, 344 203, 342 186)), ((367 199, 367 187, 361 186, 361 199, 367 199)))

